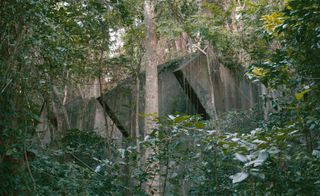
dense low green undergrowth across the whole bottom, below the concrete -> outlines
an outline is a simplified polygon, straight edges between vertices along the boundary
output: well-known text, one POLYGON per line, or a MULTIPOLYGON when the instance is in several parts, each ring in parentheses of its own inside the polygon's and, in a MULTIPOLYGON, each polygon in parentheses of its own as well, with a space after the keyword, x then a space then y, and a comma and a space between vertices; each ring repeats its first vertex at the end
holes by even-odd
MULTIPOLYGON (((235 114, 220 122, 239 119, 235 114)), ((199 116, 159 118, 140 143, 152 149, 144 167, 137 166, 141 154, 129 141, 113 147, 108 157, 103 138, 92 131, 68 130, 49 150, 28 149, 33 155, 30 173, 7 177, 18 183, 7 184, 1 193, 15 189, 39 195, 145 195, 141 185, 158 176, 165 195, 319 194, 320 150, 308 153, 295 125, 287 126, 286 119, 285 126, 275 126, 278 117, 270 118, 253 130, 243 124, 241 130, 224 131, 199 116)))

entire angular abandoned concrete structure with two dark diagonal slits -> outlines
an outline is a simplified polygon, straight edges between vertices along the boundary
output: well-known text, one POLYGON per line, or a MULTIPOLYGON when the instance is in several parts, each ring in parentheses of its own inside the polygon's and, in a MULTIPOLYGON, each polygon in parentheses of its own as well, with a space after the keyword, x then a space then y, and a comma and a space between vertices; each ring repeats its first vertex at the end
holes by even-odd
MULTIPOLYGON (((246 80, 243 72, 230 71, 214 55, 197 53, 158 66, 159 115, 200 114, 204 119, 231 110, 246 110, 258 104, 262 86, 246 80), (210 58, 209 58, 210 57, 210 58)), ((122 81, 102 97, 76 98, 64 107, 69 127, 95 130, 103 137, 121 140, 135 136, 136 122, 143 135, 144 73, 139 75, 140 92, 134 78, 122 81), (139 99, 138 102, 136 99, 139 99), (136 116, 139 103, 139 116, 136 116), (105 112, 105 113, 104 113, 105 112), (105 120, 107 119, 107 120, 105 120)), ((262 104, 260 104, 262 105, 262 104)), ((38 135, 44 144, 54 137, 54 126, 42 114, 38 135)))

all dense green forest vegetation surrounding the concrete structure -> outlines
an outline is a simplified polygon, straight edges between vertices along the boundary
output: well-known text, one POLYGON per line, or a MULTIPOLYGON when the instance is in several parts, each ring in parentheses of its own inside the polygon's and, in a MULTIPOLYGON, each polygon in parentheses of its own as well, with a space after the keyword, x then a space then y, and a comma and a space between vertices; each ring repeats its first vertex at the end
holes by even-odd
POLYGON ((277 92, 264 96, 273 107, 267 119, 255 110, 215 122, 159 117, 139 146, 77 129, 58 132, 47 148, 35 142, 43 107, 62 131, 66 86, 143 69, 142 4, 1 1, 0 195, 146 195, 142 185, 153 179, 164 195, 319 195, 317 0, 158 1, 159 37, 186 32, 190 48, 209 43, 222 63, 246 67, 249 79, 277 92), (119 29, 117 51, 110 31, 119 29), (151 149, 148 160, 140 149, 151 149))

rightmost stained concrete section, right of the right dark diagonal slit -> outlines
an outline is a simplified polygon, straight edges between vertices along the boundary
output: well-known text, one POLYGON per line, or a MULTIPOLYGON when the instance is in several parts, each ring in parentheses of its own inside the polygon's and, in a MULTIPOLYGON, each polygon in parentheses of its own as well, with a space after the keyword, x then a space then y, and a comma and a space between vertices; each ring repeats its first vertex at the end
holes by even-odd
POLYGON ((258 103, 260 86, 246 80, 243 72, 232 73, 215 61, 209 62, 208 70, 207 63, 207 57, 200 54, 176 71, 183 72, 185 80, 190 83, 211 118, 214 115, 213 107, 219 115, 230 110, 249 109, 258 103), (214 105, 211 104, 212 90, 214 105))

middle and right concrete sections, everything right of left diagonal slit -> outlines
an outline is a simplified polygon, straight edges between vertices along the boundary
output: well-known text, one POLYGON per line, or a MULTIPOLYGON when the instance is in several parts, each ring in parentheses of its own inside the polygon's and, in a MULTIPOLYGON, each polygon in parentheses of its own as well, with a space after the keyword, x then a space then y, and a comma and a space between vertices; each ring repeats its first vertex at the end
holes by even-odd
MULTIPOLYGON (((210 54, 214 55, 214 54, 210 54)), ((233 73, 214 58, 199 53, 158 66, 159 115, 185 113, 213 118, 230 110, 244 110, 259 102, 260 85, 246 80, 243 72, 233 73), (213 104, 214 103, 214 104, 213 104)), ((144 73, 140 74, 139 128, 143 135, 144 73)), ((134 136, 135 80, 129 78, 103 95, 119 125, 134 136)))

